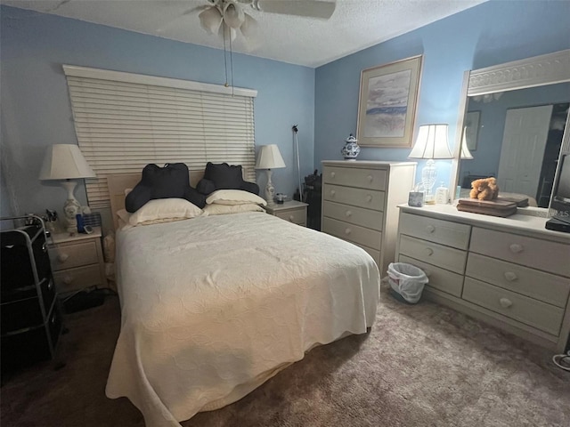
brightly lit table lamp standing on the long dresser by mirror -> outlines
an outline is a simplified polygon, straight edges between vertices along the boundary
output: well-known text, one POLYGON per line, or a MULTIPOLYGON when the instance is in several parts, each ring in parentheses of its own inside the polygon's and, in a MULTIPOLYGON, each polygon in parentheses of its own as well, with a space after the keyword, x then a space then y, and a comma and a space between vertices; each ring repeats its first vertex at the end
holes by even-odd
POLYGON ((416 144, 411 149, 409 158, 426 158, 428 162, 421 170, 421 183, 426 191, 424 201, 431 205, 436 203, 432 189, 436 183, 437 168, 435 158, 453 158, 447 145, 448 125, 421 125, 419 126, 416 144))

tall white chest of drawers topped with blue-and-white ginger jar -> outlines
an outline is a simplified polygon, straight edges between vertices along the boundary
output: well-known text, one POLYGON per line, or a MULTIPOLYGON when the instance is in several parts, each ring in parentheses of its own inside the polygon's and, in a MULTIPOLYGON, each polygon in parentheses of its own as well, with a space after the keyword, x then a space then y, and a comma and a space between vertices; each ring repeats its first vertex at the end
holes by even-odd
POLYGON ((322 231, 361 246, 380 274, 394 261, 397 205, 408 201, 414 162, 322 162, 322 231))

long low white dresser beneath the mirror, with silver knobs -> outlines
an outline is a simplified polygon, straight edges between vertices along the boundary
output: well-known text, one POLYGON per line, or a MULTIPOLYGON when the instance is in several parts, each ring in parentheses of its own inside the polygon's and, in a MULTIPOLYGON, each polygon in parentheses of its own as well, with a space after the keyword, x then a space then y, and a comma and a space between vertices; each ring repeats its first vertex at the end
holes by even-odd
POLYGON ((453 205, 401 206, 397 260, 424 270, 424 295, 562 352, 570 333, 570 234, 545 218, 453 205))

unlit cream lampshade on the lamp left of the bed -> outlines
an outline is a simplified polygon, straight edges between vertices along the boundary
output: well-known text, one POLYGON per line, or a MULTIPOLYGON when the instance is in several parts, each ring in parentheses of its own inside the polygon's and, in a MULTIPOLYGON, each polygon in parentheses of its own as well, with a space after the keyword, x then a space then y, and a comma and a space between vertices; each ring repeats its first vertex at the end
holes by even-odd
POLYGON ((69 180, 95 178, 79 147, 73 144, 53 144, 45 152, 39 173, 40 180, 69 180))

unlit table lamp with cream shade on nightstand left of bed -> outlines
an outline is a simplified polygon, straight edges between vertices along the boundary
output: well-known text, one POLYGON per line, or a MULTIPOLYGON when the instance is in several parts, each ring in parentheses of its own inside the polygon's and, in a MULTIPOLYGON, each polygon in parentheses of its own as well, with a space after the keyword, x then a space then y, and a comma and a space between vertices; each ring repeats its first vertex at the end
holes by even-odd
POLYGON ((95 173, 91 166, 87 165, 77 145, 53 144, 47 149, 39 179, 40 181, 61 181, 61 186, 67 190, 68 198, 63 205, 63 216, 66 222, 65 228, 69 232, 77 231, 76 215, 81 214, 81 205, 73 196, 77 181, 71 180, 84 178, 95 178, 95 173))

